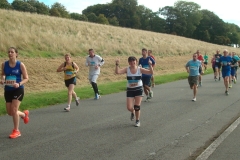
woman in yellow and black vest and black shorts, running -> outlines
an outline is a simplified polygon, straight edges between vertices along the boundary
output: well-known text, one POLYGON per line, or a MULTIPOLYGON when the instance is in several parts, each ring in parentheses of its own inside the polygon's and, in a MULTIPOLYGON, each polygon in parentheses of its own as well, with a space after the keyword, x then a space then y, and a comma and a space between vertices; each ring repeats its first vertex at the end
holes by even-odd
POLYGON ((65 62, 62 63, 57 69, 57 72, 62 71, 64 71, 65 86, 68 88, 68 105, 66 108, 64 108, 64 110, 70 111, 72 96, 75 98, 76 106, 78 106, 80 102, 80 98, 74 91, 74 87, 76 85, 76 74, 79 71, 79 67, 76 63, 71 61, 70 53, 65 54, 65 62))

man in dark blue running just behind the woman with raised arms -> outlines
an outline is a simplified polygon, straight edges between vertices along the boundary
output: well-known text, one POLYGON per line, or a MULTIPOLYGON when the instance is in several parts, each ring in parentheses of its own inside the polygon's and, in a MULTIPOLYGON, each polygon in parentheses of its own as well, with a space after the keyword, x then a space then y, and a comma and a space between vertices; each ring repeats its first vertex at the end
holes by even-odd
MULTIPOLYGON (((145 69, 149 69, 149 63, 148 61, 152 61, 152 65, 155 65, 155 61, 152 57, 147 56, 147 49, 143 48, 142 49, 142 58, 139 59, 139 64, 145 69)), ((147 74, 142 74, 142 82, 143 82, 143 88, 144 88, 144 93, 147 96, 147 99, 145 101, 148 101, 153 97, 153 91, 151 90, 150 87, 150 81, 151 81, 151 76, 152 75, 147 75, 147 74)))

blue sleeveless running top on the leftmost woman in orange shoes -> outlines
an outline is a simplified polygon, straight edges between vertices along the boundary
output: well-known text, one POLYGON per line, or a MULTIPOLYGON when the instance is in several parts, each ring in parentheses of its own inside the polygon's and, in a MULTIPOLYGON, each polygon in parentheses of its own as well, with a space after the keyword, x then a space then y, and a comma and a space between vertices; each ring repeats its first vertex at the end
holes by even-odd
MULTIPOLYGON (((4 73, 5 73, 5 90, 15 90, 17 88, 14 88, 12 85, 14 83, 19 83, 22 81, 22 71, 21 71, 21 62, 17 61, 15 67, 9 66, 9 61, 5 61, 4 64, 4 73)), ((24 88, 23 85, 21 85, 19 88, 24 88)))

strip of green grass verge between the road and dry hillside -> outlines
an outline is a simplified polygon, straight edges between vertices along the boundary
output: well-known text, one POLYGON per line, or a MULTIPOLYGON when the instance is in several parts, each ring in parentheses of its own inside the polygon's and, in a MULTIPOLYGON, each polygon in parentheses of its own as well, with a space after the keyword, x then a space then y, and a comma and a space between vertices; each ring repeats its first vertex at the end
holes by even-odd
MULTIPOLYGON (((213 73, 212 70, 208 69, 209 71, 205 74, 213 73)), ((166 74, 161 76, 154 76, 155 84, 163 84, 169 83, 181 79, 186 79, 188 77, 188 73, 175 73, 175 74, 166 74)), ((187 83, 187 82, 186 82, 187 83)), ((105 84, 99 84, 99 90, 101 95, 108 95, 111 93, 118 93, 126 90, 126 81, 119 81, 119 82, 111 82, 105 84)), ((94 92, 91 86, 87 87, 76 87, 75 92, 78 96, 81 97, 81 100, 93 98, 94 92)), ((43 108, 48 107, 56 104, 63 104, 67 102, 67 90, 61 90, 58 92, 44 92, 44 93, 32 93, 26 94, 20 106, 20 110, 24 109, 36 109, 36 108, 43 108)), ((6 114, 5 109, 5 101, 4 98, 0 99, 0 115, 6 114)))

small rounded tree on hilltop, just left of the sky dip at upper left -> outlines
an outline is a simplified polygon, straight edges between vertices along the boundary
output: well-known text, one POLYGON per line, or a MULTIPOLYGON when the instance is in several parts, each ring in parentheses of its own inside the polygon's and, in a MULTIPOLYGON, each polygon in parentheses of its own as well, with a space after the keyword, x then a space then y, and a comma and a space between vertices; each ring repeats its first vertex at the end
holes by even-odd
POLYGON ((51 16, 57 16, 56 13, 59 13, 60 14, 59 17, 70 18, 70 15, 69 15, 68 11, 66 10, 66 8, 61 3, 58 3, 58 2, 54 3, 51 6, 51 9, 49 12, 50 12, 51 16), (57 10, 57 12, 56 12, 56 10, 57 10))

